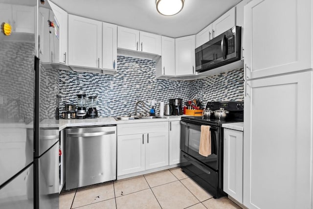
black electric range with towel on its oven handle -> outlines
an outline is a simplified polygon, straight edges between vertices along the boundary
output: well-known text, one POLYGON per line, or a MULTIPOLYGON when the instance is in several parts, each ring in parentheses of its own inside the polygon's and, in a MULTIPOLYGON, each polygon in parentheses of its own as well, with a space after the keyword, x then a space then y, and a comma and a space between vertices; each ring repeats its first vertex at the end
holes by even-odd
POLYGON ((225 119, 205 119, 203 116, 183 116, 180 121, 180 167, 214 198, 226 195, 223 191, 223 150, 222 124, 243 122, 243 102, 208 102, 206 108, 229 111, 225 119), (210 126, 211 151, 207 157, 199 154, 201 125, 210 126))

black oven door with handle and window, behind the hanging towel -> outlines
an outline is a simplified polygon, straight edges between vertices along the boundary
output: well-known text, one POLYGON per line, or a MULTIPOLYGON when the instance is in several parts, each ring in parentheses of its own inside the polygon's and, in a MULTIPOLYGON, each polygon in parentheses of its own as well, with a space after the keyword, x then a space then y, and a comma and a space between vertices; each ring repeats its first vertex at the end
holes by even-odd
POLYGON ((204 157, 199 154, 200 136, 201 136, 201 124, 186 123, 180 121, 181 133, 180 133, 180 149, 181 151, 189 154, 202 163, 210 166, 211 168, 218 170, 219 167, 219 136, 220 128, 218 126, 210 126, 211 134, 211 152, 208 157, 204 157))

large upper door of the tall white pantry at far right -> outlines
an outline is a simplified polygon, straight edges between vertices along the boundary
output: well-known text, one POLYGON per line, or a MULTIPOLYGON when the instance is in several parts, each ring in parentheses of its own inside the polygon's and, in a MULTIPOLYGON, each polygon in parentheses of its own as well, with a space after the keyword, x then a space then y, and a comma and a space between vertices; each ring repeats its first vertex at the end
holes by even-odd
POLYGON ((246 79, 312 68, 312 0, 253 0, 244 11, 246 79))

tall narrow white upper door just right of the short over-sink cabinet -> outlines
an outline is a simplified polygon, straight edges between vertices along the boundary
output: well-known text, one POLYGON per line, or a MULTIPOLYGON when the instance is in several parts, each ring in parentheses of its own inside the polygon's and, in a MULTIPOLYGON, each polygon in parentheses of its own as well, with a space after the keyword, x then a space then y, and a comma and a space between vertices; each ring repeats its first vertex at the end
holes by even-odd
POLYGON ((162 75, 175 75, 175 39, 162 36, 162 75))

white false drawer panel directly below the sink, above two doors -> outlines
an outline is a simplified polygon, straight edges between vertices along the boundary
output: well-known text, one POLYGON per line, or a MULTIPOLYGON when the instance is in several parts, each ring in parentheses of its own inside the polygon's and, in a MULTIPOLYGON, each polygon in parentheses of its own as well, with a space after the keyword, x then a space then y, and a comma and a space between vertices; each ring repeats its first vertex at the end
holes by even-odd
POLYGON ((131 123, 118 124, 117 135, 143 134, 168 131, 168 122, 149 122, 149 123, 131 123))

